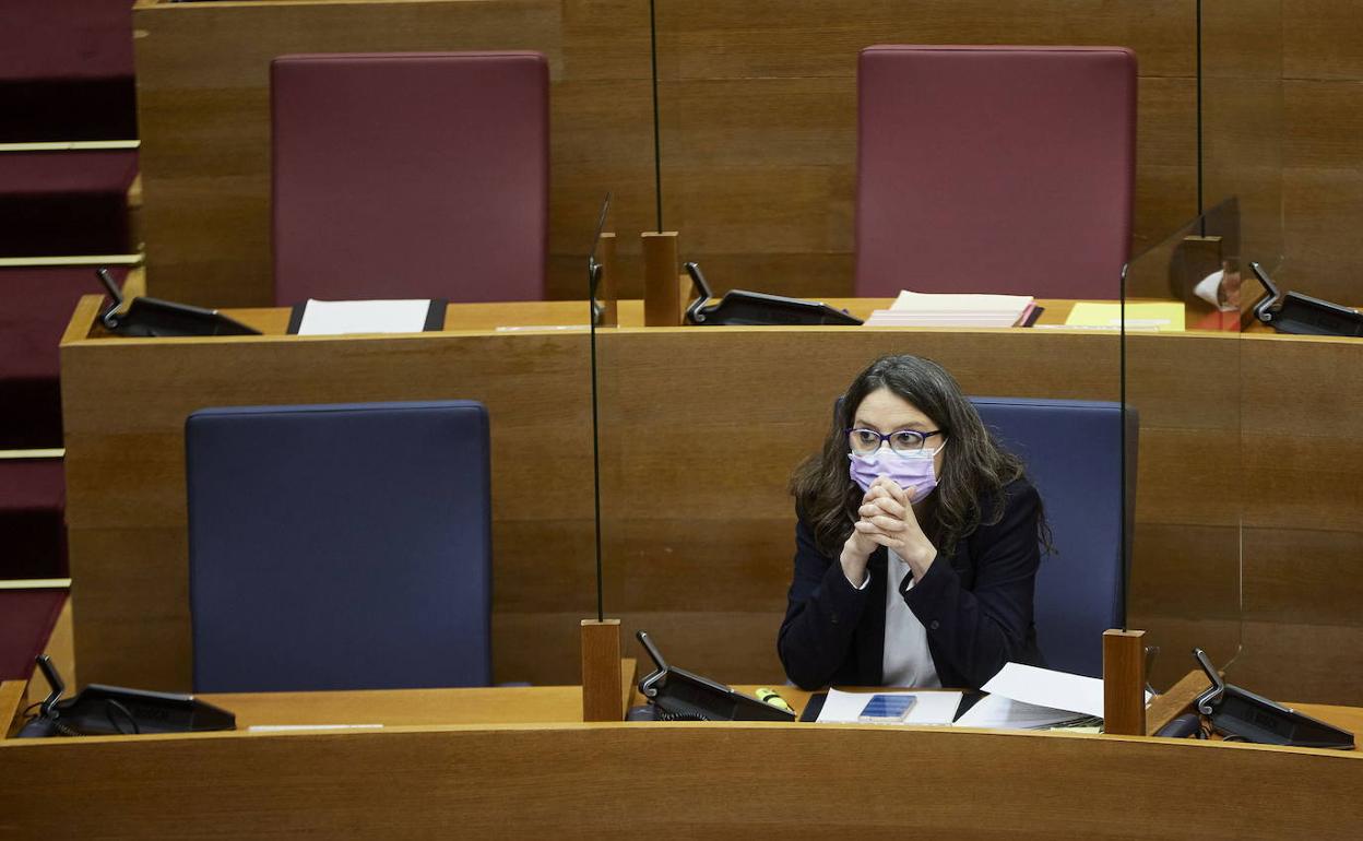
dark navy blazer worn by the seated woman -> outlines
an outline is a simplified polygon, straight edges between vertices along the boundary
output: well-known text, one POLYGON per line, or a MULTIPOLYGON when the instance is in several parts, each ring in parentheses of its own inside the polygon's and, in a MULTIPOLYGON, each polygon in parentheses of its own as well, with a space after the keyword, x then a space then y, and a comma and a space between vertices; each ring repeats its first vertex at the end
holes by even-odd
MULTIPOLYGON (((1005 489, 1003 518, 979 526, 951 556, 938 555, 923 578, 900 593, 927 628, 928 650, 945 687, 979 688, 1007 661, 1041 665, 1032 622, 1040 566, 1040 498, 1025 478, 1005 489)), ((992 511, 992 503, 984 511, 992 511)), ((889 552, 867 564, 871 582, 853 587, 842 564, 819 552, 801 519, 795 527, 795 579, 777 652, 801 688, 882 686, 885 587, 889 552)), ((898 562, 897 562, 898 563, 898 562)))

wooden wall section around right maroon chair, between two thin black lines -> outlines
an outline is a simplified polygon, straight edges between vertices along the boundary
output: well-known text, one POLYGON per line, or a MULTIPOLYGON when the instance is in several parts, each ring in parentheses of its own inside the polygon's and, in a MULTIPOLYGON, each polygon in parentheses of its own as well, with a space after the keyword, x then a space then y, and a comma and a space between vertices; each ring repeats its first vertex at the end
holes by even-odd
POLYGON ((660 0, 662 225, 717 289, 846 296, 856 61, 872 44, 1130 46, 1133 247, 1197 213, 1193 0, 660 0))

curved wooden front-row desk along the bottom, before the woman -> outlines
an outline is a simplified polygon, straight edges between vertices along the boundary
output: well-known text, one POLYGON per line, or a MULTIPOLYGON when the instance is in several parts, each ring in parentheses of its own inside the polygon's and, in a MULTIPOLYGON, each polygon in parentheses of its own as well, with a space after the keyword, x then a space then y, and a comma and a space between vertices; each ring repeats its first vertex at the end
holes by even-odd
MULTIPOLYGON (((876 725, 463 722, 491 698, 502 712, 553 714, 571 690, 420 691, 384 699, 401 712, 348 707, 365 720, 354 724, 403 722, 382 729, 5 740, 0 827, 575 837, 646 816, 669 834, 836 825, 857 836, 1348 838, 1363 822, 1358 751, 876 725), (895 776, 913 796, 867 796, 895 776)), ((232 697, 243 721, 243 710, 278 718, 297 706, 275 697, 267 713, 267 697, 248 698, 232 697)))

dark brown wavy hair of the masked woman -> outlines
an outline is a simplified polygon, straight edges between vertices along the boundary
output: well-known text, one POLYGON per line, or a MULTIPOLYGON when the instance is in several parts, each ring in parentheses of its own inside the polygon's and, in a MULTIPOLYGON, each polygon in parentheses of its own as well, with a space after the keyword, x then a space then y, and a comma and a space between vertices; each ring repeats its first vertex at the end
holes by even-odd
MULTIPOLYGON (((837 557, 852 534, 863 496, 848 476, 846 429, 866 395, 880 388, 917 406, 947 442, 936 492, 923 510, 923 530, 942 555, 950 556, 980 525, 1003 518, 1003 487, 1024 476, 1025 468, 994 439, 946 368, 917 356, 880 357, 852 380, 838 401, 823 448, 791 477, 796 511, 814 530, 819 551, 837 557)), ((1054 551, 1044 514, 1037 518, 1037 538, 1054 551)))

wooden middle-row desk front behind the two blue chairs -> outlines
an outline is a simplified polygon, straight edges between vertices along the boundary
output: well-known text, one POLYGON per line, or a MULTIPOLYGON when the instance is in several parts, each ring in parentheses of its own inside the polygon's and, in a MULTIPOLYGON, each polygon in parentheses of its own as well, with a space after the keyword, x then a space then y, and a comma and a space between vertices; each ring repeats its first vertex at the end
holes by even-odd
MULTIPOLYGON (((577 622, 596 596, 587 334, 489 327, 581 323, 582 304, 458 305, 444 333, 349 338, 277 335, 282 311, 237 311, 274 335, 154 342, 93 334, 94 309, 82 303, 61 349, 85 680, 189 686, 191 412, 451 397, 492 414, 496 679, 578 679, 577 622), (551 457, 527 439, 555 442, 551 457), (515 504, 525 488, 553 498, 527 511, 515 504)), ((1062 314, 1051 303, 1047 318, 1062 314)), ((970 394, 1122 395, 1120 342, 1107 333, 631 327, 638 318, 624 301, 626 326, 598 337, 607 612, 725 682, 782 680, 786 480, 868 360, 930 356, 970 394), (740 435, 752 429, 762 447, 740 435)), ((1363 702, 1360 354, 1349 339, 1129 337, 1142 424, 1130 622, 1160 632, 1157 676, 1182 676, 1193 642, 1240 638, 1243 523, 1246 652, 1231 679, 1269 697, 1363 702)))

